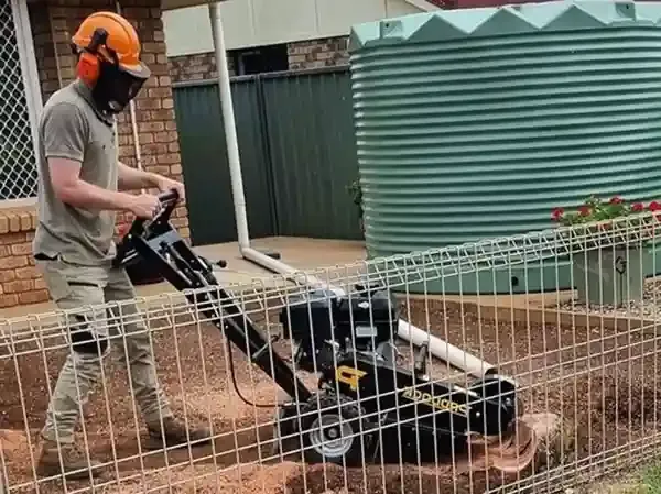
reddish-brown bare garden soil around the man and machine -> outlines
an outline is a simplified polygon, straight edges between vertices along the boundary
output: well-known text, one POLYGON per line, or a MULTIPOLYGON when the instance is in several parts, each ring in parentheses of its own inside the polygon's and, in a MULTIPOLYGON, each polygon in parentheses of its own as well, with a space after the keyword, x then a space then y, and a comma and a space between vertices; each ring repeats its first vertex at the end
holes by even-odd
MULTIPOLYGON (((411 301, 403 314, 410 315, 419 327, 431 322, 434 334, 484 358, 501 373, 516 376, 527 411, 560 416, 560 433, 542 444, 543 452, 524 475, 641 440, 657 424, 658 343, 654 336, 642 329, 624 332, 524 322, 495 325, 479 320, 472 309, 462 310, 456 304, 440 300, 411 301)), ((277 315, 270 319, 274 321, 277 315)), ((140 432, 136 431, 139 417, 133 411, 127 374, 117 359, 107 359, 106 392, 97 389, 90 398, 85 410, 85 431, 90 451, 112 462, 109 479, 102 481, 126 482, 104 492, 138 493, 144 487, 163 486, 162 492, 176 493, 473 493, 517 479, 494 471, 457 473, 453 465, 343 470, 277 459, 266 461, 271 452, 274 411, 251 407, 234 392, 227 349, 218 330, 212 326, 188 326, 176 331, 165 328, 154 331, 153 340, 161 383, 173 407, 188 420, 212 426, 217 438, 208 448, 140 457, 138 436, 143 430, 140 425, 140 432), (104 396, 111 397, 111 402, 106 403, 104 396), (142 475, 141 471, 147 473, 142 475), (169 484, 177 481, 181 484, 169 490, 169 484)), ((291 355, 289 342, 277 344, 281 354, 291 355)), ((403 361, 410 362, 408 343, 401 342, 400 348, 403 361)), ((36 492, 31 485, 31 465, 47 406, 46 376, 52 386, 65 355, 53 351, 46 356, 47 372, 40 351, 15 360, 0 359, 3 461, 10 488, 23 484, 21 492, 36 492)), ((236 350, 234 362, 247 399, 262 405, 278 399, 279 391, 272 381, 236 350)), ((430 369, 434 377, 457 376, 438 361, 430 369)), ((313 376, 304 378, 314 385, 313 376)), ((67 483, 66 487, 72 491, 88 485, 77 482, 67 483)), ((46 481, 40 484, 39 492, 64 490, 61 483, 46 481)))

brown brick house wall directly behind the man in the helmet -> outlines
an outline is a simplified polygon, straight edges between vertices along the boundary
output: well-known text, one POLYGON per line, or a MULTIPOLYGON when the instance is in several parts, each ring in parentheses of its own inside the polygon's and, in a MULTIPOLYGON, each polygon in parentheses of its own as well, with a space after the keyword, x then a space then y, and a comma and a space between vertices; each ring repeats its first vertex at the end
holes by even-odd
MULTIPOLYGON (((122 14, 138 30, 143 61, 153 76, 136 99, 136 120, 142 166, 182 179, 172 81, 169 73, 160 0, 122 1, 122 14)), ((109 0, 51 0, 30 4, 30 21, 35 45, 40 84, 44 101, 75 77, 75 57, 69 40, 78 23, 96 10, 115 10, 109 0)), ((119 156, 137 165, 132 128, 127 110, 118 118, 119 156)), ((43 279, 34 268, 31 241, 36 221, 34 206, 0 207, 0 308, 47 300, 43 279)), ((130 221, 120 216, 118 227, 130 221)), ((175 211, 173 223, 188 238, 185 207, 175 211)))

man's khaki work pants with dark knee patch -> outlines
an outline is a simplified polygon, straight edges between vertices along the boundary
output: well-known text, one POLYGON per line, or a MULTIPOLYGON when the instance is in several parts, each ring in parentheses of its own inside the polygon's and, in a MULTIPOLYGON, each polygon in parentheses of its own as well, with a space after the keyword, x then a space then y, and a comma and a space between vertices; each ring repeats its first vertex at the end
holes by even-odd
POLYGON ((126 271, 115 268, 110 263, 90 267, 59 259, 40 260, 36 264, 53 300, 58 308, 67 310, 65 336, 69 342, 42 437, 63 444, 73 443, 74 429, 101 376, 101 360, 110 345, 120 350, 120 362, 128 363, 132 391, 143 419, 148 424, 159 424, 171 417, 166 397, 156 382, 149 333, 136 306, 98 308, 104 304, 134 299, 136 292, 126 271))

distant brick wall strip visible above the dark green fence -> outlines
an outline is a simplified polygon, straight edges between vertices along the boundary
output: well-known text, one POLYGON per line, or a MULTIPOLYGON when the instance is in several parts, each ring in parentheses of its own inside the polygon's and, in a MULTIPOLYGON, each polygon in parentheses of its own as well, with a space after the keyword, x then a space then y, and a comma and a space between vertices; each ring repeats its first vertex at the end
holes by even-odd
MULTIPOLYGON (((290 70, 328 67, 349 63, 347 52, 348 37, 328 37, 303 41, 288 45, 290 70)), ((170 57, 170 76, 173 83, 189 80, 209 80, 218 77, 214 52, 170 57)), ((228 57, 229 75, 236 75, 234 59, 228 57)))

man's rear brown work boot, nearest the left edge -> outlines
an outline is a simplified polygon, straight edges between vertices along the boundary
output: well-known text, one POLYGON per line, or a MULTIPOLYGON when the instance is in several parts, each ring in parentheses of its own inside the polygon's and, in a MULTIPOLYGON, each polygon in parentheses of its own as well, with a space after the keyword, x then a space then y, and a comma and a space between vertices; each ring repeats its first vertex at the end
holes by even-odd
POLYGON ((57 444, 44 440, 36 465, 39 476, 64 475, 67 481, 97 477, 102 473, 101 463, 87 461, 87 454, 75 444, 57 444), (62 454, 62 462, 61 462, 62 454))

